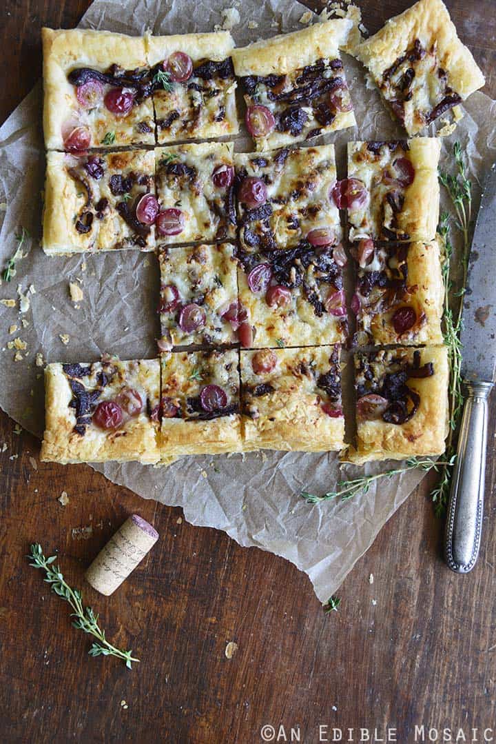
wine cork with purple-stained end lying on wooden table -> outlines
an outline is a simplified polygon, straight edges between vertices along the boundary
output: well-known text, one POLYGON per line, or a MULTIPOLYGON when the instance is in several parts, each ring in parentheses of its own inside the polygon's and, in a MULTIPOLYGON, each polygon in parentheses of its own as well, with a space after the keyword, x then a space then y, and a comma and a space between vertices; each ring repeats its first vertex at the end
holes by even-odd
POLYGON ((132 514, 86 571, 86 581, 107 597, 123 583, 158 540, 155 527, 132 514))

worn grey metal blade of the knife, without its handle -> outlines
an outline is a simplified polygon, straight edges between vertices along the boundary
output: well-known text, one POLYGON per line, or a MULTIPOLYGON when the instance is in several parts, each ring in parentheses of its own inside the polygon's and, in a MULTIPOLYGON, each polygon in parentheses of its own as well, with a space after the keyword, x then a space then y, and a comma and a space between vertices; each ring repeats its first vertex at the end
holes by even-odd
POLYGON ((463 301, 462 375, 493 382, 496 365, 496 163, 486 177, 463 301))

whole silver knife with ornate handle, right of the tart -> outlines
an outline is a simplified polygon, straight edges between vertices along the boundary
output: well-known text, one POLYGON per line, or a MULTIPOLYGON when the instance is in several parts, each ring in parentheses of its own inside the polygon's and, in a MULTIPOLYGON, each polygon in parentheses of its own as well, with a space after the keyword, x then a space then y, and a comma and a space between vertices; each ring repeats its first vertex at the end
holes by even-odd
POLYGON ((486 470, 488 398, 496 362, 496 163, 486 177, 463 301, 462 377, 466 400, 458 440, 445 557, 458 574, 474 568, 480 548, 486 470))

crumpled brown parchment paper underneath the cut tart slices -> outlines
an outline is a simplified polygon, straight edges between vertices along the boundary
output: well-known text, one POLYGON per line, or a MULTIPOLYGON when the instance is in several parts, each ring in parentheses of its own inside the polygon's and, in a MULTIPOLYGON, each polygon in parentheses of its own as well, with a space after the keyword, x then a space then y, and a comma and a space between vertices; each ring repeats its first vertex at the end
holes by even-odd
MULTIPOLYGON (((148 29, 152 33, 212 31, 214 25, 222 24, 224 7, 239 11, 240 22, 232 29, 238 45, 303 28, 299 21, 307 10, 291 0, 225 5, 222 0, 95 0, 81 26, 134 34, 148 29)), ((317 16, 313 20, 317 22, 317 16)), ((328 138, 338 148, 341 177, 346 141, 401 136, 379 95, 366 86, 358 62, 344 56, 344 64, 358 129, 328 138)), ((476 199, 477 183, 495 159, 495 107, 485 95, 474 94, 457 132, 445 140, 445 150, 451 150, 454 138, 462 143, 476 199)), ((36 353, 42 353, 45 362, 88 362, 103 352, 122 359, 155 356, 159 283, 157 261, 150 254, 116 251, 48 258, 42 253, 45 155, 41 112, 39 84, 0 129, 0 265, 15 251, 19 228, 27 228, 31 236, 23 246, 25 257, 18 262, 16 275, 0 286, 0 301, 16 300, 15 307, 0 303, 0 405, 40 437, 44 392, 36 353), (83 289, 83 300, 76 304, 69 297, 70 281, 83 289), (13 325, 18 329, 10 333, 13 325), (17 346, 25 343, 26 347, 9 347, 13 339, 20 339, 17 346), (14 361, 16 353, 21 361, 14 361)), ((244 149, 245 141, 241 138, 236 147, 244 149)), ((445 165, 449 164, 445 155, 445 165)), ((340 467, 334 454, 265 452, 182 458, 169 469, 138 464, 97 465, 95 469, 144 498, 183 507, 193 525, 225 530, 240 545, 256 545, 289 559, 308 574, 315 594, 326 601, 424 473, 410 471, 380 481, 350 501, 315 506, 300 498, 300 490, 323 493, 335 489, 339 478, 379 472, 388 466, 340 467)))

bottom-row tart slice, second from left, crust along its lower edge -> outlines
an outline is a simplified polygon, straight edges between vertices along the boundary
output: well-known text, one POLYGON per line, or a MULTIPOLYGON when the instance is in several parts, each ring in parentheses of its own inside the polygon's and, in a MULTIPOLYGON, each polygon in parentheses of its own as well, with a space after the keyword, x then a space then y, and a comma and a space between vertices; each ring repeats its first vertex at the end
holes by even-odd
POLYGON ((240 452, 237 350, 162 354, 161 456, 240 452))

